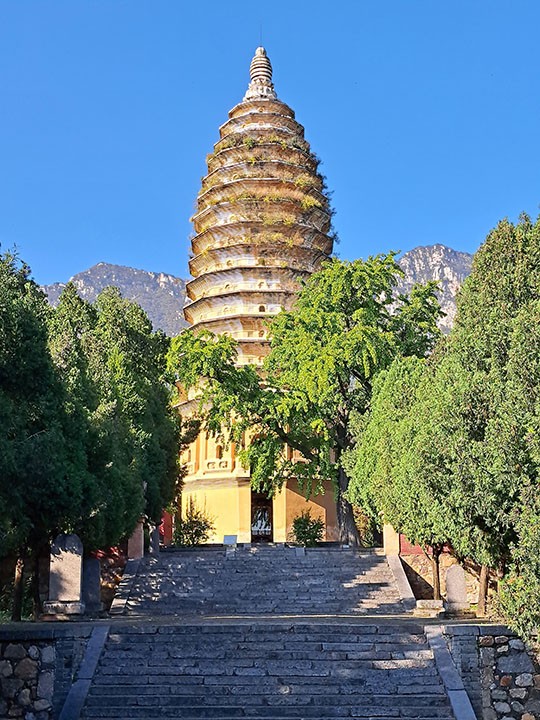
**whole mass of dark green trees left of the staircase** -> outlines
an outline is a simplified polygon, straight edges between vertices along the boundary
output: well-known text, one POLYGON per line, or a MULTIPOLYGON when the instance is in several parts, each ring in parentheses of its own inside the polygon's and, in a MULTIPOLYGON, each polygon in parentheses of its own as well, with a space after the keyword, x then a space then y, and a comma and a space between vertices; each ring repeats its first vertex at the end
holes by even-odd
POLYGON ((113 288, 92 306, 69 284, 50 308, 29 268, 0 256, 0 539, 19 586, 59 532, 89 551, 160 519, 181 480, 168 342, 113 288))

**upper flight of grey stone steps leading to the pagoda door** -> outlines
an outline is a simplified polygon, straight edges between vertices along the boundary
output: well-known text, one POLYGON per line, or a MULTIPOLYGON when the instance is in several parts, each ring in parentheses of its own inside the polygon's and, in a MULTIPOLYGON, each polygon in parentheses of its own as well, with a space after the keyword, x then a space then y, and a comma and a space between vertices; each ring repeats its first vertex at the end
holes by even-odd
POLYGON ((161 553, 145 560, 131 615, 387 615, 402 613, 384 555, 254 546, 161 553))

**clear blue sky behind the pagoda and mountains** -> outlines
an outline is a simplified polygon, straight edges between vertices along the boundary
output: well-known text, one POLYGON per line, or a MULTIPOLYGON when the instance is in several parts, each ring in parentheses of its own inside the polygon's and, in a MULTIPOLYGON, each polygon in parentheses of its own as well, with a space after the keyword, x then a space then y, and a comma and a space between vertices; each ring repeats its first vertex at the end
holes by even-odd
POLYGON ((538 0, 0 0, 0 243, 39 282, 187 275, 189 217, 260 41, 352 259, 474 251, 540 203, 538 0))

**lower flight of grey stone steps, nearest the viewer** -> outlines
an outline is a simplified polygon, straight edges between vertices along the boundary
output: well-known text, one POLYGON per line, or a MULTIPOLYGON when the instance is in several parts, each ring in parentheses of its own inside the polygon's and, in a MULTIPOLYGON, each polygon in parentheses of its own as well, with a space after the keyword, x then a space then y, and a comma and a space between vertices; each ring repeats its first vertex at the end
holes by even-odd
POLYGON ((417 624, 236 620, 111 628, 83 717, 454 715, 417 624))

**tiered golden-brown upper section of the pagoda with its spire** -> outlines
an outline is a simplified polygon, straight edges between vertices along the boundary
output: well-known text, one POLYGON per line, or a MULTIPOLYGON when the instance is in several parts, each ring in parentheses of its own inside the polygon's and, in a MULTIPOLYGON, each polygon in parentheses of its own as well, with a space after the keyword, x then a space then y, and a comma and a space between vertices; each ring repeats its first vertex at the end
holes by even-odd
POLYGON ((195 329, 236 338, 240 364, 262 362, 265 321, 291 308, 301 280, 333 245, 318 160, 294 112, 277 99, 262 47, 250 77, 207 158, 184 309, 195 329))

